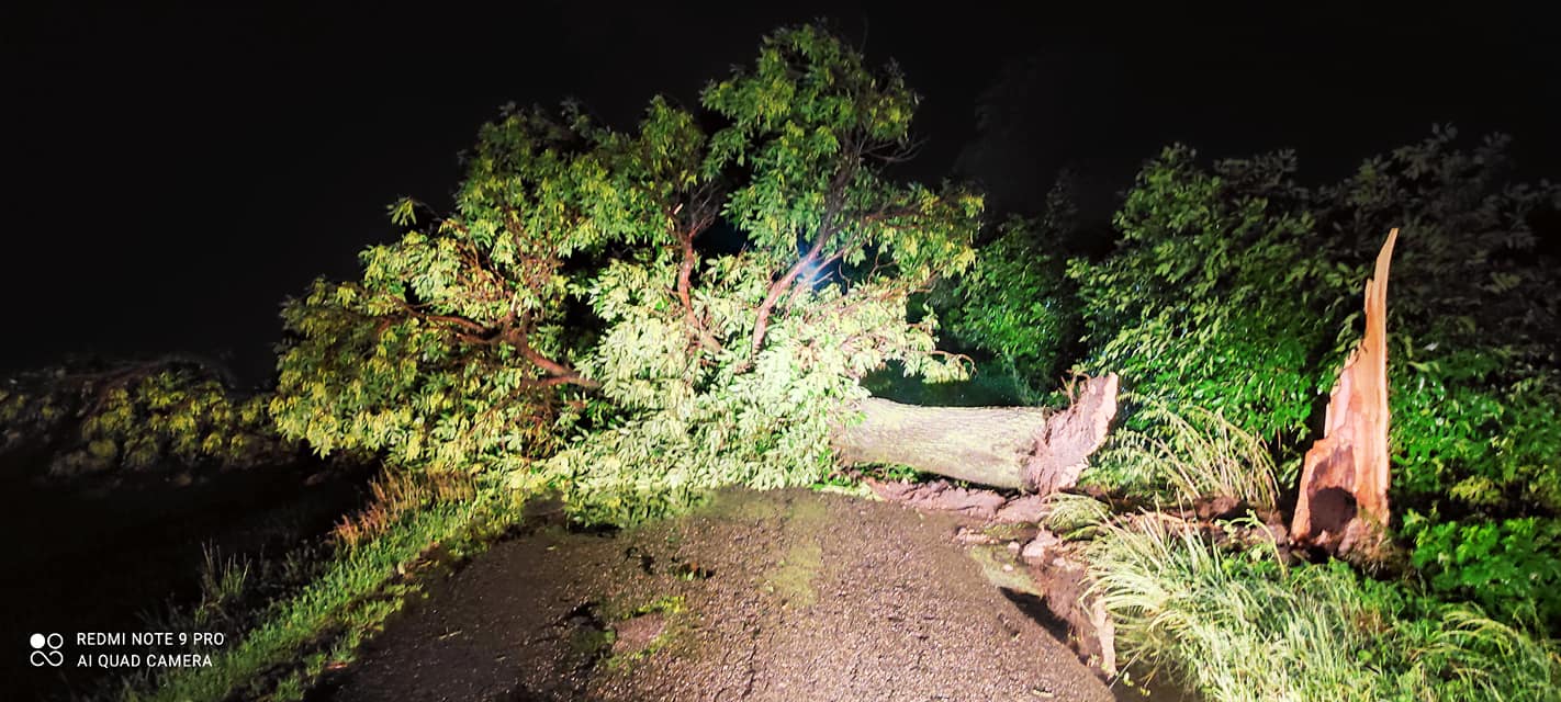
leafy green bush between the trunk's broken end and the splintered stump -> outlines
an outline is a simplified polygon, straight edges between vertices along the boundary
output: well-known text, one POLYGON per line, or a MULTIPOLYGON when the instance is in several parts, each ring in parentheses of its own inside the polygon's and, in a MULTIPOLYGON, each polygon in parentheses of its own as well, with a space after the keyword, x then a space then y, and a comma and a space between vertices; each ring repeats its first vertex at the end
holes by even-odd
POLYGON ((1294 165, 1277 154, 1205 170, 1180 147, 1150 161, 1116 215, 1118 248, 1069 264, 1085 365, 1260 437, 1297 440, 1325 382, 1327 312, 1342 318, 1353 270, 1319 256, 1294 165))

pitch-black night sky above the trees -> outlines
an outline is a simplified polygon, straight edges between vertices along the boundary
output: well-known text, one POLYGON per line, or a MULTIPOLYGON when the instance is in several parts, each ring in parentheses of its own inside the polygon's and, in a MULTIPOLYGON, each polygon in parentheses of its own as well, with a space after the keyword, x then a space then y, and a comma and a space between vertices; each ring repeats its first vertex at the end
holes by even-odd
POLYGON ((448 203, 457 151, 500 105, 576 97, 631 125, 652 94, 693 106, 763 33, 815 17, 874 62, 898 59, 924 97, 912 175, 958 167, 1008 207, 1032 206, 1061 165, 1104 203, 1174 140, 1214 158, 1296 148, 1303 175, 1336 178, 1439 122, 1506 131, 1525 173, 1561 176, 1561 33, 1495 3, 1463 5, 1478 16, 11 5, 0 373, 72 353, 187 351, 261 381, 283 298, 317 275, 351 276, 364 245, 393 236, 396 197, 448 203), (979 134, 983 94, 1002 109, 979 134))

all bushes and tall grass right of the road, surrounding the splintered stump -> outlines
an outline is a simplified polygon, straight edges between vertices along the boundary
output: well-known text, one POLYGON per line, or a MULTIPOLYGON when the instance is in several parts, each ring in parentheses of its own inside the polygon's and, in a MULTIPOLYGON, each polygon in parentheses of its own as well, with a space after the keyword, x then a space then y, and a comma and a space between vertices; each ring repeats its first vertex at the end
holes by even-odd
POLYGON ((1083 480, 1133 509, 1069 504, 1096 524, 1065 535, 1086 541, 1129 660, 1221 700, 1558 699, 1561 189, 1514 183, 1505 139, 1469 147, 1450 128, 1338 184, 1297 173, 1291 153, 1168 148, 1105 254, 1069 251, 1054 217, 1010 222, 948 303, 980 320, 954 342, 1052 357, 1074 343, 1054 331, 1080 329, 1060 363, 1122 374, 1121 426, 1083 480), (1293 504, 1392 226, 1397 557, 1360 573, 1229 538, 1293 504), (1218 496, 1246 516, 1183 519, 1218 496))

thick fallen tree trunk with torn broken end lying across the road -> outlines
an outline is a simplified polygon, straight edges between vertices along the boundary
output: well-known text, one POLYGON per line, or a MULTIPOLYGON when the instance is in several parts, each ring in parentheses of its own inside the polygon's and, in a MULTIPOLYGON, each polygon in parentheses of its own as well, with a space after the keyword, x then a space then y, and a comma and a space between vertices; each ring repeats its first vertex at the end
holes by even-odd
POLYGON ((860 423, 835 429, 846 465, 898 463, 999 488, 1047 495, 1079 480, 1116 415, 1116 374, 1086 378, 1063 412, 1040 407, 918 407, 868 398, 860 423))

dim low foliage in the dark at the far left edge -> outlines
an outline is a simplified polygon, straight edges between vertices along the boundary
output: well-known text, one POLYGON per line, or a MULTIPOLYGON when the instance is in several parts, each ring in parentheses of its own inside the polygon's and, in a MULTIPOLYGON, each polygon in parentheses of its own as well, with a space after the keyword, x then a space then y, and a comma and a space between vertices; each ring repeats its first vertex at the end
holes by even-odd
POLYGON ((0 385, 0 451, 45 449, 56 477, 286 462, 268 401, 190 360, 47 368, 0 385))

